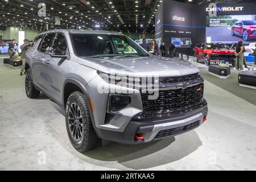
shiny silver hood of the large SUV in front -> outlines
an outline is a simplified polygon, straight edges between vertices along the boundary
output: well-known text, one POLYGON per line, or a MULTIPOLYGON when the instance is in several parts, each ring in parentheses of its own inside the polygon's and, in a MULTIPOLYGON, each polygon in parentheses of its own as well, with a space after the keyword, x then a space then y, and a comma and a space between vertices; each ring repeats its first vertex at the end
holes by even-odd
POLYGON ((167 57, 80 57, 79 63, 105 73, 130 76, 181 76, 199 73, 194 65, 167 57))

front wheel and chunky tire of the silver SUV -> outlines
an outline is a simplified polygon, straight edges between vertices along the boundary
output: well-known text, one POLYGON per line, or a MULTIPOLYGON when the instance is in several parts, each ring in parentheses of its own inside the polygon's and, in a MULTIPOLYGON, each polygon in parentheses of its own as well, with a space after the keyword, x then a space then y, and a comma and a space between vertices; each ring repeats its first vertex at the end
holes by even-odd
POLYGON ((81 92, 73 92, 66 105, 66 127, 72 146, 79 152, 97 147, 100 139, 93 129, 87 99, 81 92))

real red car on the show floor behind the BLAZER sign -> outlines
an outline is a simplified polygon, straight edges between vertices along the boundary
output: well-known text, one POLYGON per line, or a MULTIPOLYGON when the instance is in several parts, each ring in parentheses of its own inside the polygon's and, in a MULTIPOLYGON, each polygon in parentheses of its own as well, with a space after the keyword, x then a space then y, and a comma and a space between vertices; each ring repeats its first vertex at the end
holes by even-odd
POLYGON ((229 63, 233 67, 236 64, 234 49, 223 43, 201 43, 193 50, 194 55, 199 60, 203 60, 205 65, 229 63))

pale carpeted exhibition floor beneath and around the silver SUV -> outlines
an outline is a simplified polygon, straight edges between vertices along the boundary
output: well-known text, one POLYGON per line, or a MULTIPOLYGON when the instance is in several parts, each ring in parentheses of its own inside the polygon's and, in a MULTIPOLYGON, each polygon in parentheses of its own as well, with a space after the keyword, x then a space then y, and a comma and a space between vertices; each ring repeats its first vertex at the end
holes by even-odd
POLYGON ((59 106, 44 94, 28 99, 24 76, 0 58, 0 170, 255 170, 256 90, 238 86, 235 71, 228 80, 200 71, 209 104, 204 125, 175 138, 80 154, 59 106))

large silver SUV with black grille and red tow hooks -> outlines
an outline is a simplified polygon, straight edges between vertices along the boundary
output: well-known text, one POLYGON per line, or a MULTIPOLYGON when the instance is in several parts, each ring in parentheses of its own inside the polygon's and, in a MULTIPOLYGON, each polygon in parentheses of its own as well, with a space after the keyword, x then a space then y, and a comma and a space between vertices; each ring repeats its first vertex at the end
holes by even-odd
POLYGON ((151 55, 120 32, 52 30, 26 56, 26 93, 65 109, 77 151, 175 136, 207 117, 204 80, 185 62, 151 55), (123 45, 123 46, 122 46, 123 45))

